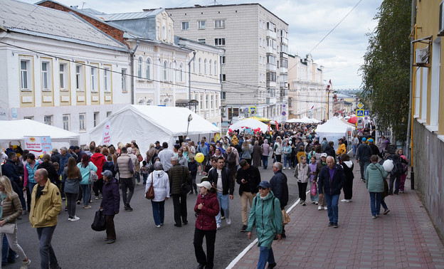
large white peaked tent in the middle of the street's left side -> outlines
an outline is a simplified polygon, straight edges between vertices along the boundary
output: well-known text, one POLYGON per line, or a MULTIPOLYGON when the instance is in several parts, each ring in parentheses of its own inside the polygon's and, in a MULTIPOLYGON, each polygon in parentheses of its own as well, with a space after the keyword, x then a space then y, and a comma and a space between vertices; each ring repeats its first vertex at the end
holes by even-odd
MULTIPOLYGON (((111 143, 127 143, 136 140, 142 153, 149 149, 149 144, 167 142, 170 147, 177 137, 186 135, 188 117, 188 135, 209 135, 220 132, 211 122, 197 115, 186 107, 158 107, 154 105, 127 105, 112 113, 90 131, 90 140, 103 144, 102 137, 106 126, 109 126, 111 143)), ((196 141, 196 139, 193 138, 196 141)))

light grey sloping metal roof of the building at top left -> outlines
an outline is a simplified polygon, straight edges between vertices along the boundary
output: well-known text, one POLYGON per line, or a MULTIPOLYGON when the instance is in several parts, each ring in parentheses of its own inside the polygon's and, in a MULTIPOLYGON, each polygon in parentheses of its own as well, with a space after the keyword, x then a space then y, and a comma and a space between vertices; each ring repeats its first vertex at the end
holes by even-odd
POLYGON ((114 38, 73 13, 16 0, 0 0, 0 27, 16 33, 127 51, 114 38))

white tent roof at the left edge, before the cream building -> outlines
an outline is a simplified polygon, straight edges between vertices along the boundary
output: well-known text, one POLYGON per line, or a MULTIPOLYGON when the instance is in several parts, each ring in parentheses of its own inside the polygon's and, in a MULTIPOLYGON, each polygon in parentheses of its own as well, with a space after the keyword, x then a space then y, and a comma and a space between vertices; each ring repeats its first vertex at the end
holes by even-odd
MULTIPOLYGON (((9 142, 21 142, 25 137, 51 137, 53 147, 78 145, 79 135, 35 120, 0 120, 0 143, 5 149, 9 142)), ((14 143, 15 142, 15 143, 14 143)))

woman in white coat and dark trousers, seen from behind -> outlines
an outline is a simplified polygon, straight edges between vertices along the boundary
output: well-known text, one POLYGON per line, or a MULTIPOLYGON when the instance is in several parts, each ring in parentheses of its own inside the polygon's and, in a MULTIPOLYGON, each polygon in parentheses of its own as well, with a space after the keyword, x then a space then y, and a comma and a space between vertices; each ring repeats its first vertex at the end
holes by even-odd
POLYGON ((160 228, 160 226, 164 225, 165 200, 169 199, 169 177, 164 172, 162 162, 154 163, 154 171, 147 178, 145 194, 151 184, 153 184, 154 188, 154 199, 151 200, 154 223, 157 228, 160 228))

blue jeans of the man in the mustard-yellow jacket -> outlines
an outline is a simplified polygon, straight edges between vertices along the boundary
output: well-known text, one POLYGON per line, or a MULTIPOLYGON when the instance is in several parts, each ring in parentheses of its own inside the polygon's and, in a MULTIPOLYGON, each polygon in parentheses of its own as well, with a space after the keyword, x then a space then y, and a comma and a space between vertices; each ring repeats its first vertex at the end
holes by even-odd
POLYGON ((51 240, 56 226, 37 228, 38 240, 40 241, 40 267, 42 269, 58 268, 56 253, 54 253, 51 240))

